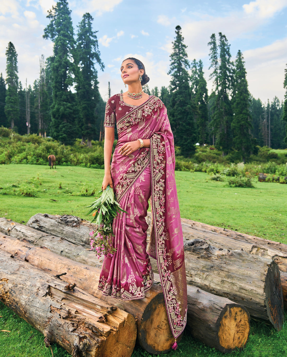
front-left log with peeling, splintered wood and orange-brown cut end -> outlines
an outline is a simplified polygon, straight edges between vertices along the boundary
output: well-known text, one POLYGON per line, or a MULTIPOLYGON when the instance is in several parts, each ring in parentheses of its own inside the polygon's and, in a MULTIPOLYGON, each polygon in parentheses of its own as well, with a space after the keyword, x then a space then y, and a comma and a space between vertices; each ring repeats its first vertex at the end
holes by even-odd
POLYGON ((85 291, 65 290, 52 275, 0 250, 0 298, 72 356, 131 356, 136 341, 132 315, 85 291))

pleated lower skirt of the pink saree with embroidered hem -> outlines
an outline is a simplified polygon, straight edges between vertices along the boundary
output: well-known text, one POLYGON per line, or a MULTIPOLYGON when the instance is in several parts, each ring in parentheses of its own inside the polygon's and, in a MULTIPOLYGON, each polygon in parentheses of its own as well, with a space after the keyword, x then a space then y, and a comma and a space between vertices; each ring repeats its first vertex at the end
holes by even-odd
POLYGON ((118 215, 113 221, 113 246, 117 251, 112 257, 104 258, 98 287, 104 295, 122 300, 142 299, 152 286, 145 221, 150 195, 150 167, 147 166, 119 202, 127 213, 118 215))

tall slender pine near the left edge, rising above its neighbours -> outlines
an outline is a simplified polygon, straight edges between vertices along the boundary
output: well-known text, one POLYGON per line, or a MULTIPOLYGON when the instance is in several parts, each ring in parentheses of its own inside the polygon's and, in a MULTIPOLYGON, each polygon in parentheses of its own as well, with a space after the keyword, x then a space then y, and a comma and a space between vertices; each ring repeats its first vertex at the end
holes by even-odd
POLYGON ((6 84, 8 85, 5 99, 5 114, 8 125, 14 128, 14 123, 19 119, 19 98, 18 98, 18 62, 17 53, 12 42, 6 48, 6 84))

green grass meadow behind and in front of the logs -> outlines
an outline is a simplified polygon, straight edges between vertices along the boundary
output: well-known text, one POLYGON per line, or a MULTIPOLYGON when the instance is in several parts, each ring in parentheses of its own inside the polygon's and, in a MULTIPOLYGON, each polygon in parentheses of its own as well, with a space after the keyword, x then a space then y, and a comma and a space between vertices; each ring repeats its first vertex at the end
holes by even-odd
MULTIPOLYGON (((35 213, 72 214, 84 218, 93 196, 101 187, 103 170, 77 166, 0 166, 0 217, 26 223, 35 213), (39 179, 38 179, 39 178, 39 179), (61 184, 60 184, 61 182, 61 184), (39 184, 41 183, 41 185, 39 184), (11 186, 12 185, 12 186, 11 186), (33 187, 36 197, 14 195, 19 187, 33 187), (61 186, 62 188, 59 188, 61 186), (9 194, 3 194, 3 193, 9 194), (2 194, 1 194, 2 193, 2 194)), ((255 188, 229 188, 225 182, 211 181, 202 172, 176 171, 181 216, 220 227, 287 243, 287 186, 254 182, 255 188)), ((86 217, 87 218, 87 217, 86 217)), ((0 357, 52 356, 44 347, 44 337, 0 303, 0 357)), ((287 317, 287 316, 286 316, 287 317)), ((69 356, 57 345, 55 357, 69 356)), ((262 322, 252 321, 249 343, 232 356, 286 356, 287 326, 280 332, 262 322)), ((133 357, 149 356, 136 346, 133 357)), ((184 333, 177 350, 165 356, 219 357, 217 352, 184 333)))

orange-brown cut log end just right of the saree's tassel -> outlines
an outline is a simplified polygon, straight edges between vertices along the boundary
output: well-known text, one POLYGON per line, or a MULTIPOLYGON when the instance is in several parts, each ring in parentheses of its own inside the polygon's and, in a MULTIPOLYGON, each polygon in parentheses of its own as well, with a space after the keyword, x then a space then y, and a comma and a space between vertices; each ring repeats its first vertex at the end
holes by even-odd
POLYGON ((246 346, 249 336, 249 316, 238 306, 227 305, 218 318, 220 351, 230 353, 246 346))

